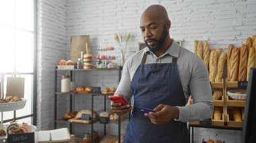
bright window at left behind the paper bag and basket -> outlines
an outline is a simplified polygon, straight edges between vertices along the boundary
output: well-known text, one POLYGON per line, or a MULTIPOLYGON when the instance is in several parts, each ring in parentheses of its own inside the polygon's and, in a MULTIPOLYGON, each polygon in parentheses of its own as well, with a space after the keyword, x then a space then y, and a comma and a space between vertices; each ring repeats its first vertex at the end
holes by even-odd
POLYGON ((4 112, 5 122, 18 118, 19 123, 33 124, 33 103, 36 102, 34 4, 35 0, 3 0, 0 5, 0 73, 4 77, 5 89, 7 77, 24 77, 24 98, 28 99, 23 109, 4 112))

